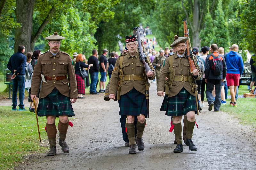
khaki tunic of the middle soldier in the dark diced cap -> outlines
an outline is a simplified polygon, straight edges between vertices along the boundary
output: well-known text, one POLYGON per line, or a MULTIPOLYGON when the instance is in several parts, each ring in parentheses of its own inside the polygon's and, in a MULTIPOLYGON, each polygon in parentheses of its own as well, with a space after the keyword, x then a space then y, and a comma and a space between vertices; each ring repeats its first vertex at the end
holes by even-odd
MULTIPOLYGON (((144 64, 140 61, 139 52, 137 51, 135 56, 131 56, 129 53, 123 55, 123 64, 119 66, 120 57, 116 60, 116 65, 113 69, 110 85, 109 85, 109 94, 116 94, 116 88, 119 81, 119 70, 120 67, 123 70, 124 75, 137 75, 143 77, 145 72, 144 64)), ((147 62, 151 70, 153 71, 153 76, 148 79, 153 80, 156 77, 156 72, 154 67, 151 64, 149 57, 147 56, 147 62)), ((132 79, 132 78, 131 78, 132 79)), ((135 88, 140 93, 145 94, 146 86, 144 81, 121 81, 121 91, 120 95, 124 95, 135 88)))

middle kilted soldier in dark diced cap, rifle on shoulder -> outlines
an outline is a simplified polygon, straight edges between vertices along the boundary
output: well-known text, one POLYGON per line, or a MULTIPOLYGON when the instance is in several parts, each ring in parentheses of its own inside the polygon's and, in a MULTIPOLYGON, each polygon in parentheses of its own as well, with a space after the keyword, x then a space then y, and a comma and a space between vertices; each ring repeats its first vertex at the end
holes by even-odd
POLYGON ((145 118, 148 117, 146 99, 149 88, 148 79, 153 80, 156 72, 147 56, 147 63, 152 71, 145 73, 144 64, 140 61, 136 37, 134 35, 126 36, 125 41, 128 53, 121 55, 116 60, 110 79, 109 99, 115 99, 118 86, 117 100, 119 100, 120 113, 127 117, 125 127, 129 138, 129 153, 136 154, 134 118, 135 116, 138 118, 136 125, 138 150, 143 151, 142 135, 146 125, 145 118))

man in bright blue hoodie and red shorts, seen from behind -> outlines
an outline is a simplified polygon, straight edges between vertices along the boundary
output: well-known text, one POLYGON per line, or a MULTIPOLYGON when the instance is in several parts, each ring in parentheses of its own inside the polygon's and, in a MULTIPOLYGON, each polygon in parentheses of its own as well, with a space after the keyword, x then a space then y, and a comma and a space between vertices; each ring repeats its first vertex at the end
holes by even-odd
POLYGON ((244 62, 242 56, 238 53, 239 47, 236 44, 231 46, 231 51, 226 56, 227 64, 227 85, 230 89, 231 102, 230 106, 237 107, 236 104, 236 87, 239 85, 240 75, 244 70, 244 62))

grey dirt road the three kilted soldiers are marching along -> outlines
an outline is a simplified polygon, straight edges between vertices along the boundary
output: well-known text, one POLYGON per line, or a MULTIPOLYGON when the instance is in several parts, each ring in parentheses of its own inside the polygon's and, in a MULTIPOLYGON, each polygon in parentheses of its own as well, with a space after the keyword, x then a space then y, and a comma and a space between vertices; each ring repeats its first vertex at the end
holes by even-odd
MULTIPOLYGON (((118 115, 118 103, 105 102, 103 94, 86 95, 73 104, 76 117, 68 129, 68 154, 29 156, 15 169, 255 169, 256 134, 252 128, 223 112, 203 112, 196 116, 193 141, 197 151, 183 144, 184 152, 173 153, 174 132, 170 117, 159 111, 163 97, 156 96, 156 85, 150 87, 150 117, 143 139, 145 150, 129 155, 124 147, 118 115)), ((7 104, 1 102, 2 105, 7 104)))

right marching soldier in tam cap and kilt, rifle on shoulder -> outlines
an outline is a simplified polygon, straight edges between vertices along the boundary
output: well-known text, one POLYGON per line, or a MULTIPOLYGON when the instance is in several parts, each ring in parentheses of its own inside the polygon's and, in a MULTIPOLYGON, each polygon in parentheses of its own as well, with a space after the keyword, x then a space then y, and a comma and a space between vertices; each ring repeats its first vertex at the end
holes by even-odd
MULTIPOLYGON (((194 61, 196 69, 190 74, 189 60, 185 53, 187 39, 188 37, 174 36, 174 42, 170 46, 174 47, 176 52, 165 59, 157 84, 157 95, 164 97, 164 102, 160 110, 165 111, 165 115, 173 117, 173 129, 177 142, 177 146, 173 150, 174 153, 183 152, 181 138, 181 119, 183 115, 187 115, 185 143, 189 146, 189 150, 197 150, 191 139, 196 122, 196 84, 194 83, 194 79, 199 80, 202 77, 202 73, 197 65, 196 56, 193 55, 191 60, 194 61), (168 80, 165 83, 166 77, 168 80)), ((170 131, 172 130, 170 129, 170 131)))

